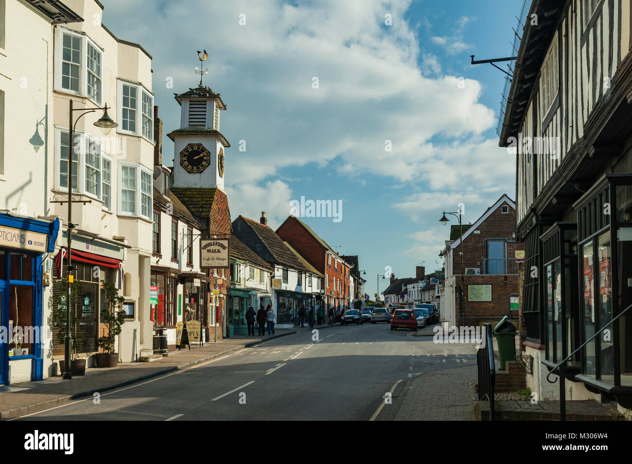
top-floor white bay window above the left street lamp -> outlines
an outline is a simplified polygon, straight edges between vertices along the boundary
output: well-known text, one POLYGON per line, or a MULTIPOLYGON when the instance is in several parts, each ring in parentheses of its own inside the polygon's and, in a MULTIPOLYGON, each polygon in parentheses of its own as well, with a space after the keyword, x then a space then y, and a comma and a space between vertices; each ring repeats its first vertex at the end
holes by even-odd
POLYGON ((101 104, 102 49, 87 35, 63 27, 56 32, 55 88, 101 104))

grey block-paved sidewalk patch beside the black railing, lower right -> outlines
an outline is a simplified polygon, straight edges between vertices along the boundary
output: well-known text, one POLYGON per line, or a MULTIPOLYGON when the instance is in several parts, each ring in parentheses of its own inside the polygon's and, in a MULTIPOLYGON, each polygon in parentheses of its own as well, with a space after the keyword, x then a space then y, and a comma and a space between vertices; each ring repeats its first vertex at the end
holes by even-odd
POLYGON ((476 381, 475 365, 422 374, 404 393, 394 420, 474 420, 476 381))

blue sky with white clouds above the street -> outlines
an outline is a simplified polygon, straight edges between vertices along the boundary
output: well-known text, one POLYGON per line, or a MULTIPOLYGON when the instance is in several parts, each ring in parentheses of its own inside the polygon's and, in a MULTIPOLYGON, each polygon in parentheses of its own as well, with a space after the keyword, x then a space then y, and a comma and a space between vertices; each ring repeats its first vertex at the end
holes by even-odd
MULTIPOLYGON (((103 23, 153 57, 164 134, 179 128, 173 93, 197 86, 196 52, 209 53, 233 220, 266 211, 276 229, 301 197, 341 205, 301 220, 359 256, 370 295, 388 270, 441 268, 455 220, 442 225, 443 210, 463 203, 473 223, 515 199, 495 132, 505 74, 470 55, 511 54, 523 0, 101 1, 103 23)), ((171 165, 166 136, 162 152, 171 165)))

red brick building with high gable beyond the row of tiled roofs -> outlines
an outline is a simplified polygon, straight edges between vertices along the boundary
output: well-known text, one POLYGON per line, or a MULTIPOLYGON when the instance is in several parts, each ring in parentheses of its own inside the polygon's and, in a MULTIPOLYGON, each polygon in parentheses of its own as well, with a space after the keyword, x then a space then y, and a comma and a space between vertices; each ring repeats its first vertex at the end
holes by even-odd
POLYGON ((325 276, 325 314, 330 307, 334 308, 336 314, 351 307, 349 263, 333 251, 306 223, 294 216, 288 216, 276 233, 325 276))

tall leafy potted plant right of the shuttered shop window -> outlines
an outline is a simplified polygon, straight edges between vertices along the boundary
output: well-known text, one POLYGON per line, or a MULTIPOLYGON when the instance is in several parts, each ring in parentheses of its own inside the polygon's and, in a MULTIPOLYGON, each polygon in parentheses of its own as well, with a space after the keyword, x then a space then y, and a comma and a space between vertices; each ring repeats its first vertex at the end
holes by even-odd
POLYGON ((106 335, 99 337, 99 347, 104 351, 95 355, 97 367, 116 367, 119 354, 114 351, 116 336, 120 335, 123 323, 125 323, 125 311, 119 290, 113 283, 104 283, 106 307, 101 312, 101 323, 106 326, 106 335))

